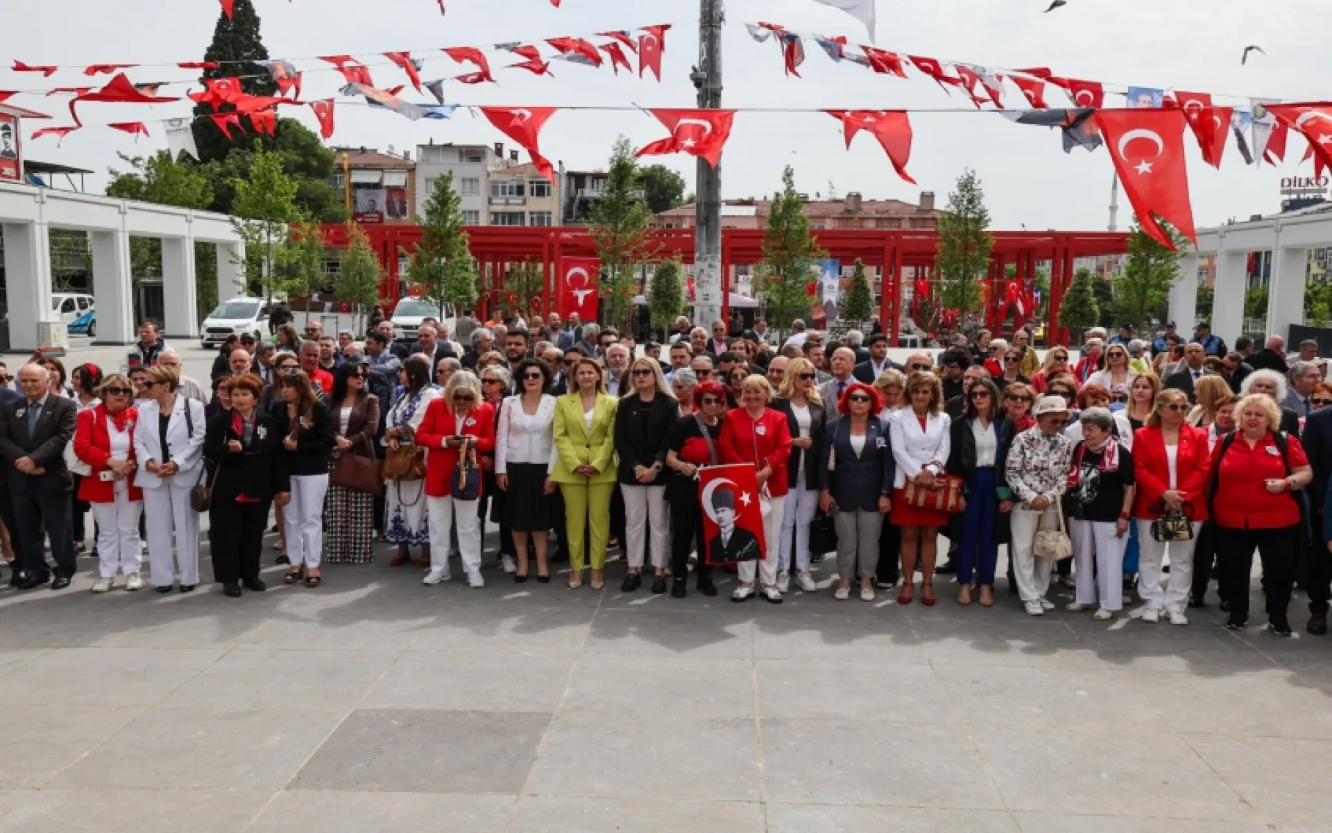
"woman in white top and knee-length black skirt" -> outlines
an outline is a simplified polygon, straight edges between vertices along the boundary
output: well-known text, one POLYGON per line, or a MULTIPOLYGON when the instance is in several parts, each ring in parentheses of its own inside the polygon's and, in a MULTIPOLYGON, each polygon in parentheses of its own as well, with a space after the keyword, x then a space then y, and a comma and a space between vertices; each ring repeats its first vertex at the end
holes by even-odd
POLYGON ((518 584, 527 581, 530 537, 537 550, 537 581, 549 584, 546 532, 554 522, 550 496, 555 490, 550 472, 558 460, 553 430, 555 397, 543 393, 550 384, 550 368, 534 359, 523 359, 514 368, 513 377, 519 392, 505 399, 500 409, 496 484, 505 492, 503 510, 518 554, 518 572, 513 580, 518 584))

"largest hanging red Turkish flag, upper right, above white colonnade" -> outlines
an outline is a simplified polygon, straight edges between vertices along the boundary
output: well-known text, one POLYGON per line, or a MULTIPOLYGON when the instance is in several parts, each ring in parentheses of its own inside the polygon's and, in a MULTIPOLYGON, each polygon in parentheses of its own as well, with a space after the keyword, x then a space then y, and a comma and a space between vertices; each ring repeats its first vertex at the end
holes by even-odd
POLYGON ((1193 207, 1188 200, 1188 168, 1184 164, 1183 111, 1103 109, 1094 117, 1147 236, 1175 251, 1169 237, 1156 224, 1156 217, 1160 217, 1196 245, 1193 207))

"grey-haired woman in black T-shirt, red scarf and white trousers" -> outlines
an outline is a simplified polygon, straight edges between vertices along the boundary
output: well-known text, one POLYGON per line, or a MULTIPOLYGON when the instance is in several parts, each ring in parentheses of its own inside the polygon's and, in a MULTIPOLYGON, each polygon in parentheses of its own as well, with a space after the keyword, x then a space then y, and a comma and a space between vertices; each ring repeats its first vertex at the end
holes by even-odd
POLYGON ((1084 409, 1078 421, 1082 430, 1064 493, 1078 584, 1066 609, 1098 605, 1092 618, 1107 620, 1123 609, 1120 576, 1134 506, 1134 457, 1128 444, 1116 437, 1114 415, 1104 407, 1084 409))

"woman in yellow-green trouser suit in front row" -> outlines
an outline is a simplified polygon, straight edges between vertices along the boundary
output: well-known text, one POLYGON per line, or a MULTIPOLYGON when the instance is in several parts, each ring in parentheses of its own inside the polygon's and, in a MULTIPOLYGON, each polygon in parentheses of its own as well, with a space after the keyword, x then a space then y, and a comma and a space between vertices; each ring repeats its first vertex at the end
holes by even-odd
POLYGON ((582 586, 583 533, 591 525, 591 586, 602 586, 606 540, 610 537, 610 496, 615 490, 615 407, 595 359, 574 365, 574 389, 555 403, 553 430, 555 470, 550 480, 565 497, 569 540, 569 589, 582 586))

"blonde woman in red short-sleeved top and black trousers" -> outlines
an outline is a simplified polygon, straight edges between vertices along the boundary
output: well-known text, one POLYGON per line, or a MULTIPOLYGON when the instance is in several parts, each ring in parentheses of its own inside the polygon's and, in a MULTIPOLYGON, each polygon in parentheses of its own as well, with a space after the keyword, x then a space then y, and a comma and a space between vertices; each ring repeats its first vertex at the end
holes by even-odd
MULTIPOLYGON (((1309 484, 1313 470, 1300 440, 1281 432, 1281 413, 1275 401, 1251 393, 1236 411, 1239 430, 1221 440, 1211 460, 1216 472, 1211 490, 1216 556, 1231 608, 1225 626, 1241 630, 1248 624, 1248 586, 1256 548, 1263 560, 1267 628, 1276 636, 1291 636, 1287 608, 1304 522, 1301 500, 1295 492, 1309 484)), ((1332 530, 1327 509, 1323 522, 1327 537, 1332 530)))

